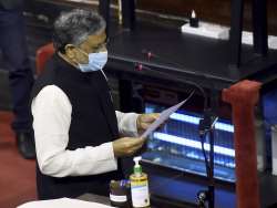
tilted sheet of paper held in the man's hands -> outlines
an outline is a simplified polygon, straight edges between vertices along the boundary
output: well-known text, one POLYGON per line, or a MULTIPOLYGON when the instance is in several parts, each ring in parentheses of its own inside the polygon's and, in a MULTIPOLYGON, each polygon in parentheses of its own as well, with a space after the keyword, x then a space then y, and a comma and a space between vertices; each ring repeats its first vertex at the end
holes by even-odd
MULTIPOLYGON (((192 95, 192 94, 191 94, 191 95, 192 95)), ((173 114, 173 113, 176 112, 182 105, 184 105, 185 102, 191 97, 191 95, 189 95, 186 100, 179 102, 178 104, 176 104, 176 105, 174 105, 174 106, 172 106, 172 107, 170 107, 170 108, 167 108, 167 110, 164 110, 164 111, 161 113, 160 117, 158 117, 155 122, 153 122, 153 123, 150 125, 150 127, 141 135, 141 137, 142 137, 142 138, 146 138, 151 133, 153 133, 158 126, 161 126, 166 119, 170 118, 171 114, 173 114)))

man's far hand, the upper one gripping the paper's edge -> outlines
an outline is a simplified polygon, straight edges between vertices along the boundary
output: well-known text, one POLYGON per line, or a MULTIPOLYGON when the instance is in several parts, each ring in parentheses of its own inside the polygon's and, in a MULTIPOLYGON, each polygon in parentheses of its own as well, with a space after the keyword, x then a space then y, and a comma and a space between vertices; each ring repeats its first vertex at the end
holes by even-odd
POLYGON ((158 118, 160 113, 141 114, 136 119, 137 133, 142 134, 147 127, 158 118))

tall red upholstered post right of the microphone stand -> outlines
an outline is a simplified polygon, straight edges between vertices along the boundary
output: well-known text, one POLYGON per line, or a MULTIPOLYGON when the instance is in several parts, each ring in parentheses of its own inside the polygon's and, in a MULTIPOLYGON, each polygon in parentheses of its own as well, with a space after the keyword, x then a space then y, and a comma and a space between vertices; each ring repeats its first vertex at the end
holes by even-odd
POLYGON ((242 81, 223 91, 223 100, 232 105, 235 126, 237 208, 260 207, 254 125, 259 89, 258 82, 242 81))

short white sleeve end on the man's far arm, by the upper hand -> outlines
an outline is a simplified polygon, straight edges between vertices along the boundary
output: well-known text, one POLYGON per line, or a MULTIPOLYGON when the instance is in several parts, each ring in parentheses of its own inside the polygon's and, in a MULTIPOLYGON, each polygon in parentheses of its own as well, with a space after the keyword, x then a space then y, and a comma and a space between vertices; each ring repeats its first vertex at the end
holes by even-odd
POLYGON ((119 131, 122 136, 134 136, 137 137, 136 119, 140 114, 136 113, 122 113, 115 111, 119 131))

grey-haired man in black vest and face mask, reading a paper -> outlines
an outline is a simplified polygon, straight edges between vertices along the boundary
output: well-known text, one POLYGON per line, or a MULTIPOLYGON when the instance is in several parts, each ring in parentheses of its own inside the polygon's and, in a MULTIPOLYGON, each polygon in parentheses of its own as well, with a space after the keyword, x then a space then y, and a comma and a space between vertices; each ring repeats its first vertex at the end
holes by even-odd
POLYGON ((102 71, 107 61, 105 22, 98 13, 63 13, 53 37, 57 54, 33 87, 31 107, 38 196, 107 195, 110 180, 123 178, 120 158, 142 147, 145 138, 137 131, 158 114, 114 111, 102 71))

